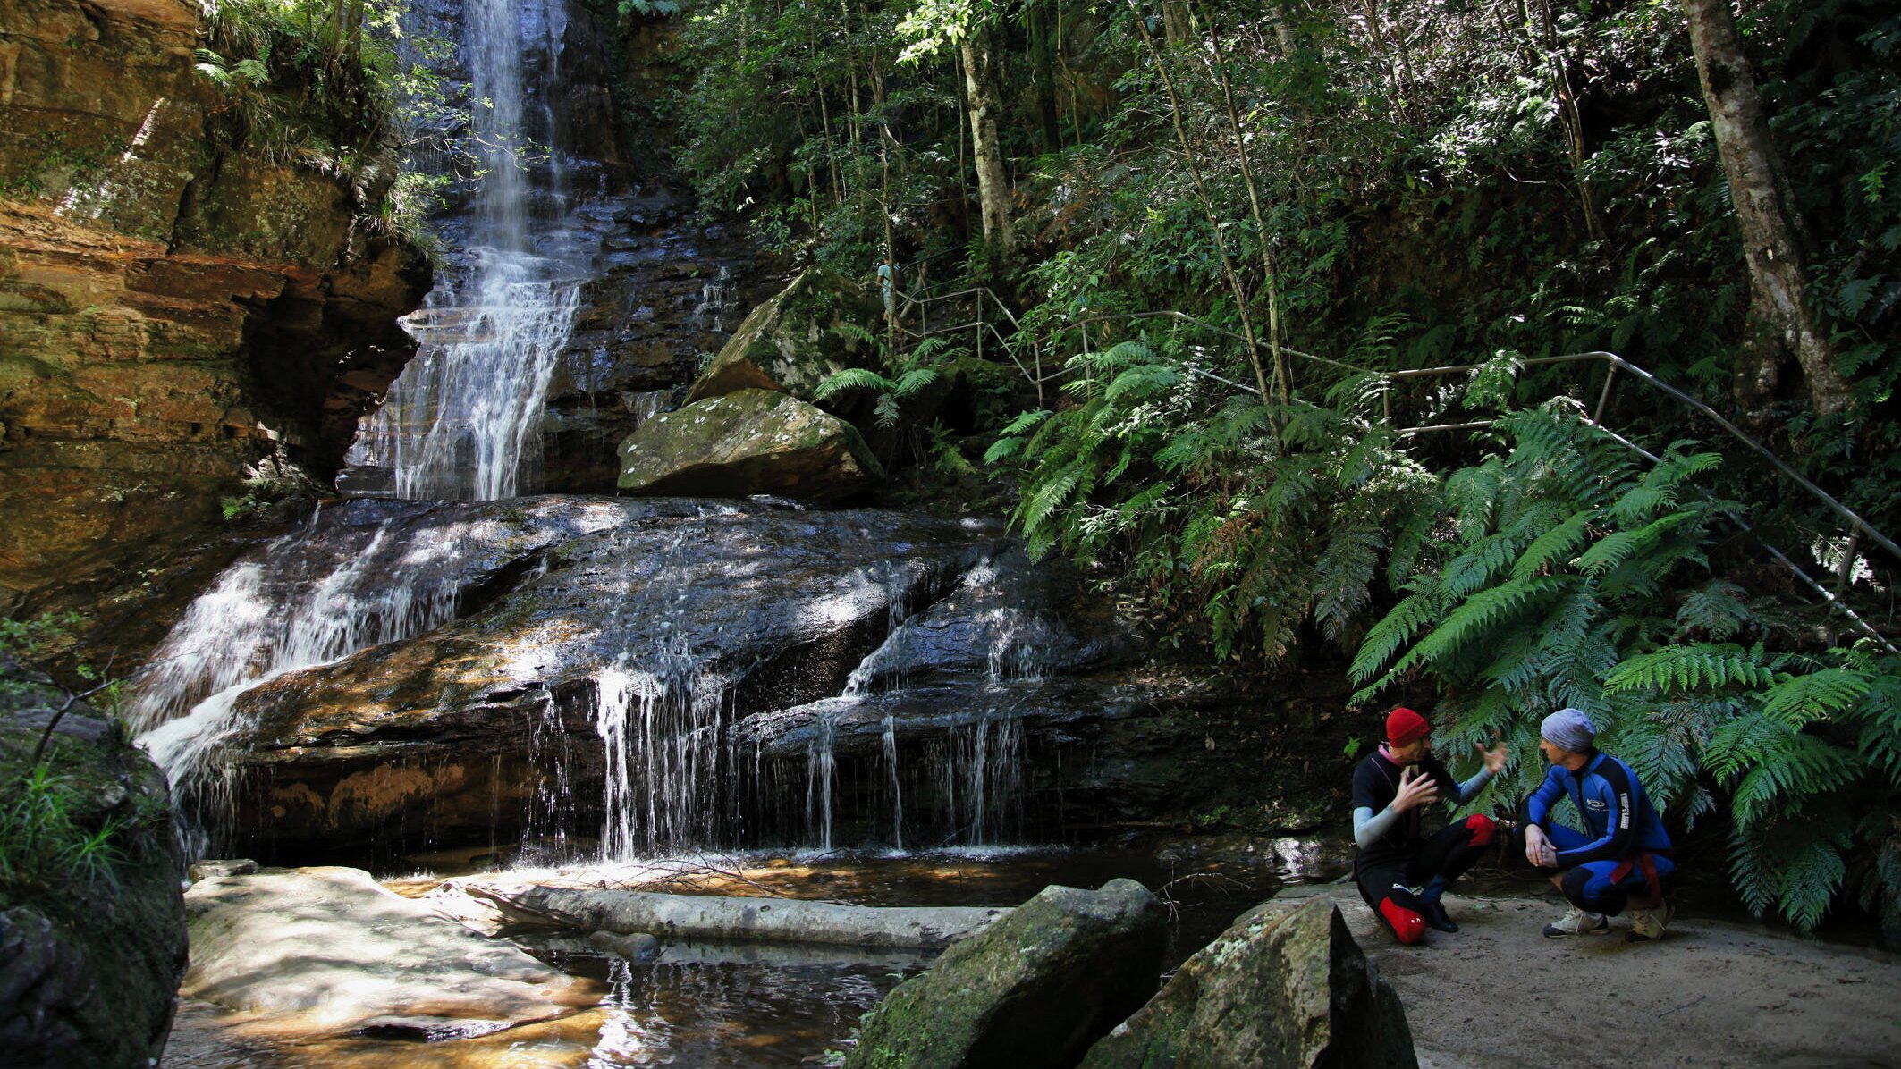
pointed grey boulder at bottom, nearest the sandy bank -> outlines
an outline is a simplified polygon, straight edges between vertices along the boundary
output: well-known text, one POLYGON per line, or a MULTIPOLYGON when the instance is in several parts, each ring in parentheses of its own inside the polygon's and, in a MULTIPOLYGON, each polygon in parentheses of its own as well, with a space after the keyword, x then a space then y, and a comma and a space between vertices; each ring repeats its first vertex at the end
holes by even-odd
POLYGON ((1241 915, 1143 1010, 1089 1048, 1084 1069, 1414 1069, 1392 985, 1340 910, 1312 898, 1241 915))

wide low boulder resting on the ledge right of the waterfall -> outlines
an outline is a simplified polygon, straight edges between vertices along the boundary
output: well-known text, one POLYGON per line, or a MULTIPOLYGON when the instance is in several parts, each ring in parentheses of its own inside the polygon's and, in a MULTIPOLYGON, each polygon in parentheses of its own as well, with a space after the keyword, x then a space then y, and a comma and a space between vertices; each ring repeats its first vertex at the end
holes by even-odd
POLYGON ((850 423, 768 389, 654 416, 620 442, 620 490, 627 494, 831 501, 882 475, 850 423))

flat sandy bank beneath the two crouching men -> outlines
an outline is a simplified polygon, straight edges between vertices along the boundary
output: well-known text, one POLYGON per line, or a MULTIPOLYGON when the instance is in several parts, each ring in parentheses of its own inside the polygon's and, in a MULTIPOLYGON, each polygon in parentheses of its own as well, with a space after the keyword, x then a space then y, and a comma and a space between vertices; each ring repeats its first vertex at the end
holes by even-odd
POLYGON ((1431 1069, 1519 1065, 1901 1065, 1901 955, 1679 917, 1661 944, 1547 940, 1549 898, 1447 896, 1460 932, 1405 947, 1342 885, 1331 894, 1399 989, 1431 1069))

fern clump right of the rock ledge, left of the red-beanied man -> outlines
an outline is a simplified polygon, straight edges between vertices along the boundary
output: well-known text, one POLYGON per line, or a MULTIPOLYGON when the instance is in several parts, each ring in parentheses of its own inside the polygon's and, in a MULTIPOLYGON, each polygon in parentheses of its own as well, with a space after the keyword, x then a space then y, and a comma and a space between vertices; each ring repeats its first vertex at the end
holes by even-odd
POLYGON ((1388 429, 1264 406, 1141 340, 1068 368, 1070 403, 1019 416, 985 456, 1021 480, 1011 518, 1032 556, 1125 566, 1217 657, 1289 653, 1308 621, 1354 634, 1388 532, 1433 488, 1388 429))

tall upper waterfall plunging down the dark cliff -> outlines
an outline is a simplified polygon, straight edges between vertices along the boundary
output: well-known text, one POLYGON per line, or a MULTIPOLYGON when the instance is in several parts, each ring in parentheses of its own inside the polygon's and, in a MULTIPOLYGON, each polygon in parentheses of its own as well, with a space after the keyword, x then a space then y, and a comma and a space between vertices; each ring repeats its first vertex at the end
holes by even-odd
MULTIPOLYGON (((523 11, 547 34, 551 55, 565 27, 557 9, 523 11)), ((470 0, 470 141, 483 173, 471 232, 458 270, 443 272, 424 308, 403 319, 416 357, 350 450, 350 463, 380 471, 397 497, 492 501, 530 494, 540 480, 542 416, 582 272, 540 251, 528 226, 528 165, 546 163, 555 203, 563 169, 523 125, 519 23, 513 0, 470 0)), ((536 118, 551 129, 546 106, 536 118)))

